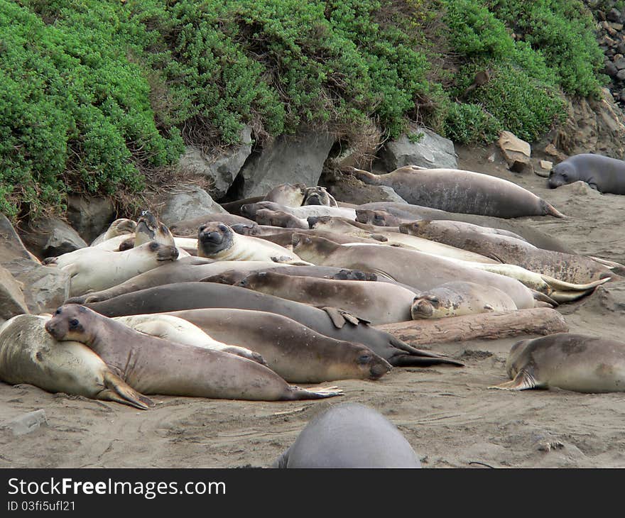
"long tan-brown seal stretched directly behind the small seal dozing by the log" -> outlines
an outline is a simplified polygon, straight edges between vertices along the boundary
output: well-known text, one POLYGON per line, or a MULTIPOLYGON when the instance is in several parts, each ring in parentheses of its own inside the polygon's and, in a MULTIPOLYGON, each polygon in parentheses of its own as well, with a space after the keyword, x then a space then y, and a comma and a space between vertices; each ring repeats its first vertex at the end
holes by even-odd
POLYGON ((533 293, 518 280, 458 265, 438 255, 383 245, 337 245, 327 239, 298 233, 293 235, 293 250, 315 265, 386 275, 419 291, 454 280, 477 282, 506 292, 518 309, 534 307, 533 293))

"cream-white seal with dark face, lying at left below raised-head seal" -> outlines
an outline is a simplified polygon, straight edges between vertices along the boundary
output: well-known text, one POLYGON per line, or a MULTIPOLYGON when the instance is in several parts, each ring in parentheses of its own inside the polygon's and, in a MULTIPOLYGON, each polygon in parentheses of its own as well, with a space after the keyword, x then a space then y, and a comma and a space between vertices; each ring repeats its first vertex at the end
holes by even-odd
POLYGON ((85 294, 89 290, 106 290, 135 275, 178 259, 177 248, 156 241, 124 252, 111 252, 97 247, 76 251, 81 253, 65 253, 55 260, 58 268, 70 274, 70 297, 85 294))

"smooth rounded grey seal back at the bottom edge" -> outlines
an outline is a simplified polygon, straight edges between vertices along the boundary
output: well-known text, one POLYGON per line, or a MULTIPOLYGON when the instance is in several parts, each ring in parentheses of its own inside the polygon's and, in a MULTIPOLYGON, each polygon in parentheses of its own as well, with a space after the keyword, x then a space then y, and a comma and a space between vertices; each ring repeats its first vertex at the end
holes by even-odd
POLYGON ((386 417, 359 403, 317 414, 272 468, 420 468, 410 443, 386 417))

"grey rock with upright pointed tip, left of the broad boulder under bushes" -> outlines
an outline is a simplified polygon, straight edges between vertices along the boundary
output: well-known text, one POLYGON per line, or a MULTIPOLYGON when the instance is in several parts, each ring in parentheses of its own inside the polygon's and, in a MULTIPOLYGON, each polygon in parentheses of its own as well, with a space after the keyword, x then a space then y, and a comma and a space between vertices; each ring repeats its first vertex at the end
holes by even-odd
POLYGON ((222 153, 206 155, 197 146, 188 145, 185 154, 180 157, 180 169, 194 175, 209 177, 210 195, 214 199, 221 199, 228 192, 250 153, 251 128, 245 126, 241 131, 241 144, 222 153))

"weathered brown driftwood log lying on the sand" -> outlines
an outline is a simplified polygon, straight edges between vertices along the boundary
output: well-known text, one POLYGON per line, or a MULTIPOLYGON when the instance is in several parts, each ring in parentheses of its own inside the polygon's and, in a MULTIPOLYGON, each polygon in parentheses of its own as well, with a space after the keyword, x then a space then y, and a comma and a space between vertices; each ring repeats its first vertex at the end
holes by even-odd
POLYGON ((473 338, 505 338, 521 334, 566 333, 564 317, 555 309, 535 307, 513 312, 450 316, 445 319, 420 319, 375 326, 411 346, 455 342, 473 338))

